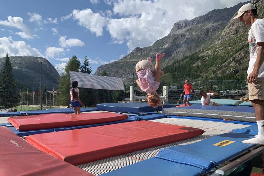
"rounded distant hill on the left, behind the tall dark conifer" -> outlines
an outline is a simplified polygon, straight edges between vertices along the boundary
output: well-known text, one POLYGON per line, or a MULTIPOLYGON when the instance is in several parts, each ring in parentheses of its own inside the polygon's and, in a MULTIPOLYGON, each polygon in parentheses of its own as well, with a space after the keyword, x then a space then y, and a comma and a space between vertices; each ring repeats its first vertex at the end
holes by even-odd
MULTIPOLYGON (((50 62, 41 57, 32 56, 10 56, 15 79, 20 87, 35 87, 37 92, 40 87, 40 62, 42 61, 42 86, 56 88, 58 85, 59 74, 50 62)), ((5 58, 0 58, 0 69, 3 68, 5 58)))

